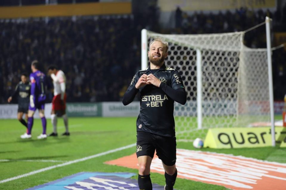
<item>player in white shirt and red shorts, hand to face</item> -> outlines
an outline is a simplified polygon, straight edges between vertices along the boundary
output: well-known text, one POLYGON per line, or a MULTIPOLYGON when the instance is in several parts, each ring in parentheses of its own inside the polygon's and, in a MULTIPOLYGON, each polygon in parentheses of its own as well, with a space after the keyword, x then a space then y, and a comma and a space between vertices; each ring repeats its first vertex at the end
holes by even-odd
POLYGON ((48 73, 51 75, 54 84, 51 113, 53 132, 49 136, 57 136, 57 117, 63 117, 66 127, 66 132, 62 135, 69 136, 68 117, 66 115, 66 76, 62 70, 59 70, 54 65, 49 66, 48 73))

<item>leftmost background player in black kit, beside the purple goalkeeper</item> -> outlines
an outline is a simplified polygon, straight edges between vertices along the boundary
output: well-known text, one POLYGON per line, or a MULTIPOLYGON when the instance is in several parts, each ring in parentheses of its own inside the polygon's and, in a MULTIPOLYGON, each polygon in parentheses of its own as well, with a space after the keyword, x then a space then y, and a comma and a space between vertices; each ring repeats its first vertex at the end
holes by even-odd
POLYGON ((26 120, 28 120, 27 114, 29 108, 29 98, 30 98, 30 88, 31 88, 31 83, 29 83, 27 77, 28 75, 25 73, 21 75, 21 81, 16 86, 12 96, 10 96, 7 100, 10 103, 12 99, 15 99, 18 96, 17 118, 21 122, 21 124, 23 124, 26 128, 28 128, 28 126, 27 122, 23 119, 23 115, 25 113, 25 118, 26 120))

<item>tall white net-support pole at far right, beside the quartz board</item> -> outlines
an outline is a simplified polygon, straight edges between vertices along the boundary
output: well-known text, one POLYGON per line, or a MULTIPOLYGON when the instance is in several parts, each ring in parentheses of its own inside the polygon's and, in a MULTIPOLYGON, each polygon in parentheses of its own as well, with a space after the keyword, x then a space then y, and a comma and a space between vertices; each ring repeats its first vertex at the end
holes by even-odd
POLYGON ((268 80, 269 80, 269 102, 271 117, 271 139, 272 146, 275 147, 275 126, 274 126, 274 100, 273 100, 273 81, 272 81, 272 59, 271 59, 271 39, 270 39, 270 21, 269 17, 265 18, 266 23, 266 41, 267 41, 267 62, 268 62, 268 80))

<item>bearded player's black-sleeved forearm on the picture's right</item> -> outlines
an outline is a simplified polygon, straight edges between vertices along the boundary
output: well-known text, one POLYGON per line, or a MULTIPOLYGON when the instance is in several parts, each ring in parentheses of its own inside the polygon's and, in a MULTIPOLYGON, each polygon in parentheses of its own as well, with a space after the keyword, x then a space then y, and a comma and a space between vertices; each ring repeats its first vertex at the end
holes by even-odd
POLYGON ((168 95, 170 98, 182 105, 186 104, 187 95, 184 88, 173 89, 165 83, 160 84, 160 88, 168 95))

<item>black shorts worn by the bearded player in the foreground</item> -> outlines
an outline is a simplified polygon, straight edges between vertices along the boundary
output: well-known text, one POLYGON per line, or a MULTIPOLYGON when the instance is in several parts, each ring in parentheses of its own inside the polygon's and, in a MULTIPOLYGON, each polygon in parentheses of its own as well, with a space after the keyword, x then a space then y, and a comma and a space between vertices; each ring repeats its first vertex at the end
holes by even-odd
POLYGON ((156 155, 167 166, 176 163, 176 137, 164 137, 144 131, 137 132, 137 158, 139 156, 150 156, 153 158, 155 150, 156 155))

